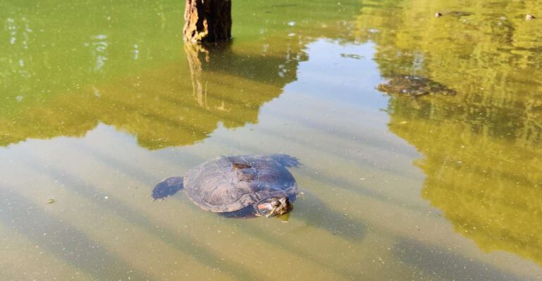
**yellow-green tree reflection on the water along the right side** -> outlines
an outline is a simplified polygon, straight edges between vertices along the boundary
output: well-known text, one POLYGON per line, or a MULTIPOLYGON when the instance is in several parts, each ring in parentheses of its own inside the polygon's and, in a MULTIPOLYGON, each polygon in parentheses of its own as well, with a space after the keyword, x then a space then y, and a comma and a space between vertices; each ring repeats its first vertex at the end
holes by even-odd
POLYGON ((422 196, 457 232, 542 265, 542 37, 518 16, 536 1, 469 6, 461 18, 432 9, 464 2, 418 2, 366 6, 359 37, 378 44, 384 77, 423 75, 457 96, 392 97, 390 130, 423 154, 422 196))

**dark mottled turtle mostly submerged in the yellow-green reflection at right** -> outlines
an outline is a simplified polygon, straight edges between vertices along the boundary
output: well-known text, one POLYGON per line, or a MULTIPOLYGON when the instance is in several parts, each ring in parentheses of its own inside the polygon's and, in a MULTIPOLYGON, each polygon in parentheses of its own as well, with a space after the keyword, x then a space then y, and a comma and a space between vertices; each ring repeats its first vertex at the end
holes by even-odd
POLYGON ((453 96, 456 92, 445 85, 421 76, 394 75, 387 83, 376 87, 380 92, 395 96, 424 96, 427 94, 440 94, 453 96))

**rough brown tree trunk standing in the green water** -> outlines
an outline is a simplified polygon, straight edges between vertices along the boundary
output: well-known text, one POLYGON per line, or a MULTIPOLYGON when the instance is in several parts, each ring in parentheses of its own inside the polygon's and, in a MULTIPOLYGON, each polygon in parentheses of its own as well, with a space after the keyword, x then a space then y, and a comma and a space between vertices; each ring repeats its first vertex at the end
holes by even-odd
POLYGON ((231 0, 186 0, 184 39, 221 42, 231 38, 231 0))

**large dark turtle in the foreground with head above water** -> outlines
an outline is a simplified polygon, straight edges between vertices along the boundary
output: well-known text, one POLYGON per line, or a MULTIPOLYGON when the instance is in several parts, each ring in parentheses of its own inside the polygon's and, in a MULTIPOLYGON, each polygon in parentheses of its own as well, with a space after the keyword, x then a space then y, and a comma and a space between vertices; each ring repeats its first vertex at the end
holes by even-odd
POLYGON ((282 216, 293 208, 298 190, 287 168, 298 166, 297 158, 286 154, 219 156, 184 177, 162 180, 152 197, 165 199, 183 189, 193 204, 222 216, 282 216))

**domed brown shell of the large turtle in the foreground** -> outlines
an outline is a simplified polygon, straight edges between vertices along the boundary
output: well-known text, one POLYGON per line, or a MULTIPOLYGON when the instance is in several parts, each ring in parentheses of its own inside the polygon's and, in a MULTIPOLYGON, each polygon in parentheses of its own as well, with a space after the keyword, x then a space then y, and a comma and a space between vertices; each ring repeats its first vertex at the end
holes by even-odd
POLYGON ((184 192, 207 211, 239 211, 270 196, 295 196, 296 180, 287 167, 298 163, 282 154, 218 157, 186 173, 184 192))

